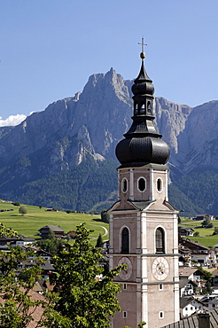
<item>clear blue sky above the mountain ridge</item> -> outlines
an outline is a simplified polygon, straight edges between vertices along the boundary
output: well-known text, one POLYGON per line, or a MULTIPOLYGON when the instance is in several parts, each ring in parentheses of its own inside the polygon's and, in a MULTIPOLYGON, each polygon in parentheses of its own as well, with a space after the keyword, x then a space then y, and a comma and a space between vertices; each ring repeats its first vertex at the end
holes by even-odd
POLYGON ((0 125, 111 67, 135 78, 142 36, 156 96, 217 100, 217 12, 217 0, 0 0, 0 125))

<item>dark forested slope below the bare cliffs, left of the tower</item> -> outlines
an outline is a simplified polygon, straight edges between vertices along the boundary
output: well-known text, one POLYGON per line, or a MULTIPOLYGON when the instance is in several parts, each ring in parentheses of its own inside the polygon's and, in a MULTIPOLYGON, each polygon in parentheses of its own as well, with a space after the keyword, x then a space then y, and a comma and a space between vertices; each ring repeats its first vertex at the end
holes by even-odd
POLYGON ((17 189, 13 180, 7 188, 12 190, 12 197, 23 204, 89 211, 116 190, 116 166, 114 160, 98 162, 87 155, 80 165, 69 170, 52 176, 37 176, 25 184, 18 182, 17 189))

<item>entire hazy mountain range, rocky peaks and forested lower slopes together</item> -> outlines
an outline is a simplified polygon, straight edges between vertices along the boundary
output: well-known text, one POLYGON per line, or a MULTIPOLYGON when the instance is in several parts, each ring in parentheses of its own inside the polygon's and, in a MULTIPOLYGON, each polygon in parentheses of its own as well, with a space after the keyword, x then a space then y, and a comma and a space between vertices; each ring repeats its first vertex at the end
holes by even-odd
MULTIPOLYGON (((93 74, 82 93, 32 113, 18 126, 1 127, 0 197, 77 210, 115 200, 119 164, 114 148, 131 124, 132 83, 113 68, 93 74)), ((156 97, 155 118, 171 151, 175 206, 187 215, 218 214, 211 192, 204 197, 204 190, 213 188, 214 194, 217 188, 218 101, 191 108, 156 97), (193 172, 201 176, 195 191, 187 186, 193 172), (196 199, 198 191, 202 199, 196 199)))

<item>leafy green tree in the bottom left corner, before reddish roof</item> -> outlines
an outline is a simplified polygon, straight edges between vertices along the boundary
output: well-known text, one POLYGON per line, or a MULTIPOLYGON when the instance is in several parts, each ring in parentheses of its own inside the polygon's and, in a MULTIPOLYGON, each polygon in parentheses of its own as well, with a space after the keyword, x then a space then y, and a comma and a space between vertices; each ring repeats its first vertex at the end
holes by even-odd
POLYGON ((29 295, 35 281, 40 277, 41 259, 35 266, 24 269, 22 277, 16 276, 20 262, 26 261, 32 252, 25 252, 21 247, 11 247, 10 251, 0 253, 0 326, 4 328, 25 328, 33 320, 35 309, 46 304, 35 301, 29 295))

